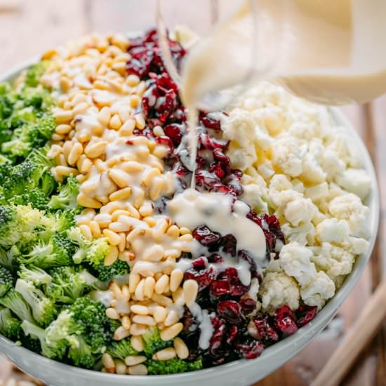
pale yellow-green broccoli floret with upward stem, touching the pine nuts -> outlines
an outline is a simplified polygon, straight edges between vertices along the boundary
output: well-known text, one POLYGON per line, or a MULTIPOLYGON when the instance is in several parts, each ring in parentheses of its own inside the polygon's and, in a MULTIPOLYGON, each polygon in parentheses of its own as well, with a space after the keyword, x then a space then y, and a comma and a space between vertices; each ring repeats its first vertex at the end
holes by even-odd
POLYGON ((74 244, 79 246, 78 251, 76 251, 73 256, 73 260, 76 264, 88 262, 92 267, 98 269, 104 262, 107 253, 109 253, 110 246, 105 237, 88 241, 77 227, 69 229, 67 231, 67 236, 74 244))

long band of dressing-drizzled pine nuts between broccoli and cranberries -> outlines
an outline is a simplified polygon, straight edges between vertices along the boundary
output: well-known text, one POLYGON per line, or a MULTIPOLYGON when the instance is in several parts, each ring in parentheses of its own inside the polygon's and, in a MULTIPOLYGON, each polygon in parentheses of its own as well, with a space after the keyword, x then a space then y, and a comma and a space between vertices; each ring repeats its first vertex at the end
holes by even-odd
MULTIPOLYGON (((145 82, 126 74, 130 42, 121 35, 88 36, 44 58, 51 65, 41 84, 58 94, 53 109, 57 127, 48 157, 58 182, 69 175, 79 182, 78 204, 84 211, 76 224, 86 239, 105 237, 110 245, 105 265, 117 259, 131 267, 126 284, 112 281, 107 317, 121 321, 115 340, 131 339, 143 350, 141 336, 158 326, 162 340, 173 340, 154 354, 156 360, 186 359, 189 350, 178 334, 184 305, 194 302, 198 284, 183 282, 178 268, 182 252, 192 251, 192 232, 154 214, 154 201, 174 191, 171 172, 162 159, 168 152, 154 140, 133 135, 145 128, 140 112, 145 82)), ((164 135, 161 127, 155 135, 164 135)), ((102 357, 103 371, 145 375, 146 357, 114 360, 102 357)))

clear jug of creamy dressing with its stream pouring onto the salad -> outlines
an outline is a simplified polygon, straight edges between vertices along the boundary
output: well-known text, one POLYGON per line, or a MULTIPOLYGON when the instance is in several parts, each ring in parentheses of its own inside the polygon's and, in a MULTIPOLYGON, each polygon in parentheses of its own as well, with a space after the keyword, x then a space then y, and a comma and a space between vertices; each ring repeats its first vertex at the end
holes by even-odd
POLYGON ((159 4, 161 52, 189 113, 192 166, 197 110, 224 109, 262 79, 326 105, 368 102, 384 93, 385 18, 385 0, 247 0, 189 49, 180 76, 159 4))

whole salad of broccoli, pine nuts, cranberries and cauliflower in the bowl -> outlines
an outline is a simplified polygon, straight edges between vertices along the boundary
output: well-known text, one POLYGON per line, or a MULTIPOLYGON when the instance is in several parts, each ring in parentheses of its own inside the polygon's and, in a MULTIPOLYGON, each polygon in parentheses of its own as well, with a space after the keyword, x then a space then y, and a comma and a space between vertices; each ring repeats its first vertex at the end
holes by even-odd
MULTIPOLYGON (((194 39, 171 34, 176 65, 194 39)), ((369 237, 345 129, 262 83, 199 113, 193 169, 186 122, 155 30, 86 36, 0 85, 1 335, 182 373, 258 357, 333 297, 369 237)))

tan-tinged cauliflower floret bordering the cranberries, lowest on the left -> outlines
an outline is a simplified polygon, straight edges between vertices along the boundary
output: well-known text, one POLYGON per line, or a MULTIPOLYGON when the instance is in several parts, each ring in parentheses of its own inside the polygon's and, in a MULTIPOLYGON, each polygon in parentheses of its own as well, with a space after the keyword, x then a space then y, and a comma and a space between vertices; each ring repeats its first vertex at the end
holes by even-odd
POLYGON ((284 272, 268 272, 260 285, 262 308, 276 309, 288 305, 292 310, 299 307, 299 288, 296 281, 284 272))

